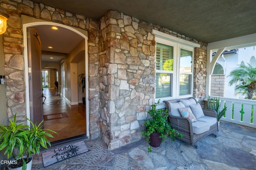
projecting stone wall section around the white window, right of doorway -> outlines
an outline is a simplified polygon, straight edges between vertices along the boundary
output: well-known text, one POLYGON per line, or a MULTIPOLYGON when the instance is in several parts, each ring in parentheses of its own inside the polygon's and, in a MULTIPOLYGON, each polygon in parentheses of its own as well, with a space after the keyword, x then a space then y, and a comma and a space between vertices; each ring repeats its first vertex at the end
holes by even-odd
MULTIPOLYGON (((101 19, 100 127, 102 140, 108 144, 109 149, 124 146, 142 137, 142 124, 147 118, 150 105, 154 103, 155 93, 156 42, 151 34, 152 29, 198 43, 166 28, 116 11, 108 12, 101 19)), ((202 83, 205 79, 201 77, 206 76, 206 51, 202 50, 206 48, 204 45, 202 43, 202 47, 198 48, 196 59, 200 59, 200 65, 195 68, 196 73, 202 73, 198 76, 198 89, 201 93, 205 89, 205 82, 202 83)))

